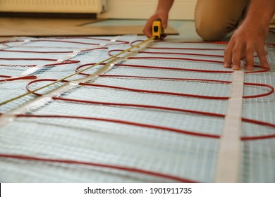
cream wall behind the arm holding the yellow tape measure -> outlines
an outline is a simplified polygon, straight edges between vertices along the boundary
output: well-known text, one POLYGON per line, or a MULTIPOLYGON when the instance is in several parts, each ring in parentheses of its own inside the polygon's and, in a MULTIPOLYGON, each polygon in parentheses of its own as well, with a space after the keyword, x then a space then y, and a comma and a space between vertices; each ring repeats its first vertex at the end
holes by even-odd
MULTIPOLYGON (((158 0, 107 0, 107 12, 98 18, 147 19, 157 8, 158 0)), ((170 19, 194 19, 196 0, 175 0, 170 19)))

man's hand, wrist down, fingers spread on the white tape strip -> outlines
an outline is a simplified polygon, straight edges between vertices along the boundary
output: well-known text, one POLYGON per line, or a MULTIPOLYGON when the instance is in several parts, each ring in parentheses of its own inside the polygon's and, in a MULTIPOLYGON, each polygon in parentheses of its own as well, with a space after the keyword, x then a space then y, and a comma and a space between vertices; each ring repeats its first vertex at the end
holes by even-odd
MULTIPOLYGON (((255 21, 257 23, 257 21, 255 21)), ((262 68, 268 68, 264 41, 268 27, 257 28, 257 25, 243 23, 231 37, 224 51, 224 68, 240 69, 240 60, 245 58, 245 70, 253 70, 254 52, 256 51, 262 68)))

